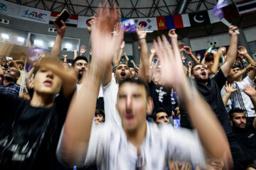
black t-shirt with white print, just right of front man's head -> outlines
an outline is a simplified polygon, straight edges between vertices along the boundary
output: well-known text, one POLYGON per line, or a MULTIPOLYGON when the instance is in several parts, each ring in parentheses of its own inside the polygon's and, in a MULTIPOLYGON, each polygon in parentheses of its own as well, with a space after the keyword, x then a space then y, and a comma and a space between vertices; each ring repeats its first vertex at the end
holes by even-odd
POLYGON ((154 84, 153 81, 149 83, 149 91, 154 103, 153 113, 155 113, 158 108, 164 108, 166 113, 171 116, 171 91, 163 86, 154 84))

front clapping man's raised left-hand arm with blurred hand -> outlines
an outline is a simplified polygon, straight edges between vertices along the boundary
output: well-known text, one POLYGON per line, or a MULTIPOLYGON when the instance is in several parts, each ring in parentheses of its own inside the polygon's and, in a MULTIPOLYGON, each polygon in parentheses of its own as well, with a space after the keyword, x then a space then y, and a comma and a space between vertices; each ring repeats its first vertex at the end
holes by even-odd
MULTIPOLYGON (((82 80, 78 96, 74 95, 65 120, 63 136, 60 138, 58 154, 69 164, 85 162, 87 144, 90 140, 92 120, 95 114, 100 77, 106 62, 112 60, 117 39, 112 38, 111 29, 117 19, 115 8, 99 8, 97 23, 91 32, 92 62, 89 72, 82 80), (104 13, 103 13, 104 11, 104 13), (110 19, 110 21, 107 21, 110 19), (101 47, 98 50, 97 47, 101 47), (88 97, 90 96, 90 97, 88 97)), ((122 37, 119 38, 121 42, 122 37)))

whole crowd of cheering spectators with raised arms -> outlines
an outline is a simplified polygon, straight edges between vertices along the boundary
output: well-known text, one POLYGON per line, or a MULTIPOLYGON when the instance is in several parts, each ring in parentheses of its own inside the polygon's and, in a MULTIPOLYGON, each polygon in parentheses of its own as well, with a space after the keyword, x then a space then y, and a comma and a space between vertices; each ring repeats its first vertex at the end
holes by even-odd
POLYGON ((195 56, 174 29, 149 55, 137 26, 136 65, 117 13, 98 8, 90 57, 82 45, 71 66, 59 59, 65 23, 55 24, 50 56, 23 91, 24 61, 1 58, 0 169, 256 169, 256 64, 238 47, 238 27, 228 51, 195 56))

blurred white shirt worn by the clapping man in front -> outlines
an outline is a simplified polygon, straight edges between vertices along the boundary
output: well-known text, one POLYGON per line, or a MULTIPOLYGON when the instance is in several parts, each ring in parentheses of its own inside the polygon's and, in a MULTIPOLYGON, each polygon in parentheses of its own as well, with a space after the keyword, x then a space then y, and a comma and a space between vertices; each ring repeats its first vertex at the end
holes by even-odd
POLYGON ((96 162, 100 169, 166 169, 170 160, 204 166, 203 147, 196 132, 175 130, 171 125, 147 123, 146 136, 137 148, 124 130, 107 124, 92 128, 85 164, 96 162))

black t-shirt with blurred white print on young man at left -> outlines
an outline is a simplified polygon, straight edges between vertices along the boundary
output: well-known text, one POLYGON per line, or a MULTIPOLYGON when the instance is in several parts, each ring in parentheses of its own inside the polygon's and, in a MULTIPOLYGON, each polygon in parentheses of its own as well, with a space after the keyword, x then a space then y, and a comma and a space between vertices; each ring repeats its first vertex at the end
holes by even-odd
POLYGON ((0 94, 0 169, 57 169, 55 156, 70 100, 57 96, 50 108, 0 94))

